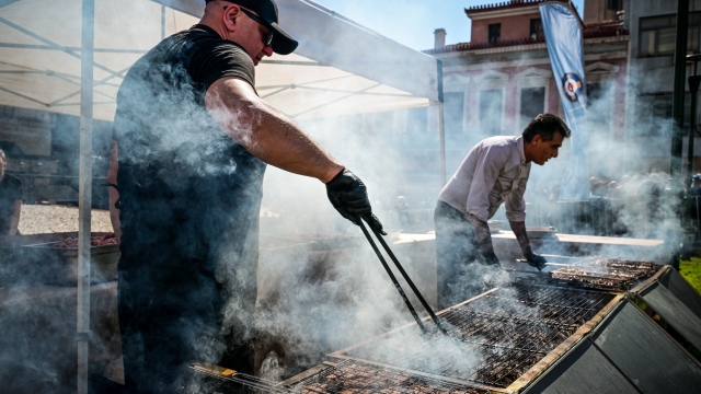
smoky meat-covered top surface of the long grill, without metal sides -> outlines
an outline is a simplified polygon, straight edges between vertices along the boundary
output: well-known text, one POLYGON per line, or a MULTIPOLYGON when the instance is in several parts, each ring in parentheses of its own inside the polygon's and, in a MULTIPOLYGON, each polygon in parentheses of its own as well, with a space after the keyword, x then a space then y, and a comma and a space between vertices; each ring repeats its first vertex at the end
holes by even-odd
MULTIPOLYGON (((275 392, 483 394, 528 391, 538 386, 538 376, 548 375, 561 364, 565 364, 562 368, 572 366, 573 361, 565 363, 563 359, 578 359, 572 355, 577 354, 576 349, 590 347, 595 341, 599 344, 596 338, 605 334, 597 332, 622 327, 623 320, 611 325, 609 317, 623 306, 636 308, 629 297, 637 297, 643 292, 641 289, 659 285, 660 277, 675 273, 667 266, 647 262, 599 256, 578 260, 565 269, 581 269, 587 271, 590 279, 614 278, 618 282, 594 288, 594 280, 574 281, 536 274, 535 277, 544 281, 517 280, 437 313, 439 325, 426 324, 430 323, 426 316, 422 318, 423 329, 417 323, 410 324, 327 355, 326 362, 275 386, 275 392), (586 288, 589 286, 591 288, 586 288), (629 292, 627 289, 631 286, 635 288, 629 292), (447 335, 439 327, 444 327, 447 335)), ((594 351, 600 355, 602 350, 594 351)))

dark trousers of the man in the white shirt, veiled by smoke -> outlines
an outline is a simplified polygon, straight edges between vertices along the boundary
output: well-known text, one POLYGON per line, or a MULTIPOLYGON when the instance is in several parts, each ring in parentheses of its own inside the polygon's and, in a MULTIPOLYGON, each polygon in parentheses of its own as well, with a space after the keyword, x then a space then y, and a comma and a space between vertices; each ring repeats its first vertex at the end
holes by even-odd
POLYGON ((480 253, 472 224, 462 212, 438 201, 434 212, 436 227, 436 268, 438 309, 458 304, 492 287, 498 268, 487 266, 480 253))

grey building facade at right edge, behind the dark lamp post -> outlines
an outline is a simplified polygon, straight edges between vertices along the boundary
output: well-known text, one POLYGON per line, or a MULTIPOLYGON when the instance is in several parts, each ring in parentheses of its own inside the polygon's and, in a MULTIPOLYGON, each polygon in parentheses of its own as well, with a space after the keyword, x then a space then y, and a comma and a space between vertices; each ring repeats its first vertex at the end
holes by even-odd
MULTIPOLYGON (((627 123, 629 144, 641 152, 640 165, 651 171, 669 171, 673 92, 675 79, 676 0, 635 0, 625 4, 625 25, 630 30, 627 123)), ((701 53, 701 1, 689 1, 687 53, 701 53)), ((687 63, 687 77, 693 74, 687 63)), ((701 72, 701 68, 697 73, 701 72)), ((688 163, 690 116, 689 85, 685 82, 683 172, 688 163)), ((697 111, 699 114, 699 111, 697 111)), ((699 127, 699 117, 693 123, 699 127)), ((694 138, 693 171, 701 171, 701 139, 694 138)))

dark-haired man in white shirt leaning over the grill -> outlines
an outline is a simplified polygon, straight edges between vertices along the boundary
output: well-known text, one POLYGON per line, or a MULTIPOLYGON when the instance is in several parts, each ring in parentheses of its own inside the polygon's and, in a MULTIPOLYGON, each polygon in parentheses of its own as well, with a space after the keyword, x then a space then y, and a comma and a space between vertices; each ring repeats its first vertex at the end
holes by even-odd
POLYGON ((438 308, 486 290, 484 265, 499 268, 487 220, 506 202, 506 218, 528 263, 542 269, 526 234, 524 193, 530 163, 558 157, 570 128, 555 115, 540 114, 520 137, 497 136, 478 143, 443 188, 435 211, 438 308))

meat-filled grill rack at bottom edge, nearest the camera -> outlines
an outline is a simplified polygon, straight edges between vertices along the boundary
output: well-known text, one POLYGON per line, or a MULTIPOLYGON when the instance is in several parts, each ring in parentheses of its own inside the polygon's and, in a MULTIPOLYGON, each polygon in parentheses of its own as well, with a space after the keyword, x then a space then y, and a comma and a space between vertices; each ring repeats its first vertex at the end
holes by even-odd
POLYGON ((359 361, 344 361, 323 370, 295 386, 301 394, 317 393, 416 393, 484 394, 487 391, 420 376, 359 361))

